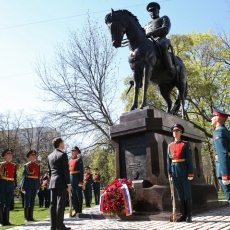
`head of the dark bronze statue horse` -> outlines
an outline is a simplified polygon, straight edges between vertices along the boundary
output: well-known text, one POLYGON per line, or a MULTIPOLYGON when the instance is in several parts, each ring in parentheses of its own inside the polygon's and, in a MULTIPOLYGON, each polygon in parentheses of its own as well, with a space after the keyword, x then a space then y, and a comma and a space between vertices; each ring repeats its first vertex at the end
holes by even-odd
POLYGON ((107 24, 112 36, 112 43, 115 48, 121 47, 123 36, 126 32, 125 22, 122 22, 122 14, 120 11, 114 11, 111 9, 111 13, 105 17, 105 23, 107 24))

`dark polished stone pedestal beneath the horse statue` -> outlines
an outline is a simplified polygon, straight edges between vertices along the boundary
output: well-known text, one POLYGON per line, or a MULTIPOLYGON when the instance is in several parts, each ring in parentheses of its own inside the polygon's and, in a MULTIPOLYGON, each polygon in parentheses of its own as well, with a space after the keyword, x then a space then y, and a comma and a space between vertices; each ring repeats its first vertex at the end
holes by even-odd
MULTIPOLYGON (((133 180, 137 189, 136 211, 172 209, 167 177, 167 148, 173 141, 171 126, 184 126, 182 139, 189 141, 193 156, 194 179, 191 182, 193 205, 197 208, 216 203, 217 191, 203 175, 201 145, 203 132, 193 124, 161 110, 145 107, 122 114, 120 124, 110 128, 116 152, 116 177, 133 180)), ((176 198, 177 194, 175 192, 176 198)))

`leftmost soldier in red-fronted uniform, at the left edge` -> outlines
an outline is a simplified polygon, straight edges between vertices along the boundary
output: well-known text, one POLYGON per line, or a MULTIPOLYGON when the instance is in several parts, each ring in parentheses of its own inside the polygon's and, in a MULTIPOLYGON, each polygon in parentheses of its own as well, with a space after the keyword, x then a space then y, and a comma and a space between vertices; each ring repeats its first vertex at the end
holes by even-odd
POLYGON ((0 163, 0 226, 11 225, 10 204, 14 196, 14 189, 17 187, 17 168, 12 163, 12 149, 5 149, 2 157, 5 161, 0 163))

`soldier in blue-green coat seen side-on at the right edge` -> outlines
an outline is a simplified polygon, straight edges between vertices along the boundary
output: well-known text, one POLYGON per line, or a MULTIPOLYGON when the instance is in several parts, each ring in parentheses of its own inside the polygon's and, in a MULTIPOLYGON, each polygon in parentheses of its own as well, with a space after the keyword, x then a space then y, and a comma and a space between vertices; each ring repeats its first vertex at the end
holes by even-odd
POLYGON ((230 132, 225 127, 229 114, 218 108, 213 108, 212 126, 213 146, 216 154, 216 171, 220 185, 230 205, 230 132))

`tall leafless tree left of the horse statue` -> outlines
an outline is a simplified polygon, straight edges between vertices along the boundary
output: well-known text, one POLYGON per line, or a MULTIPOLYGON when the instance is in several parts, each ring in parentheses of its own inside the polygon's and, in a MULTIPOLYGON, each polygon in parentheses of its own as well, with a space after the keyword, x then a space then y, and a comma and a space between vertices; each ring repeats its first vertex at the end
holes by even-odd
POLYGON ((107 144, 109 127, 116 122, 115 56, 108 33, 88 18, 82 30, 71 31, 67 44, 57 47, 52 64, 37 63, 40 87, 55 103, 48 115, 66 135, 82 134, 95 146, 107 144))

